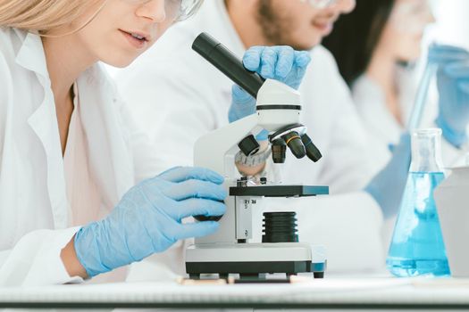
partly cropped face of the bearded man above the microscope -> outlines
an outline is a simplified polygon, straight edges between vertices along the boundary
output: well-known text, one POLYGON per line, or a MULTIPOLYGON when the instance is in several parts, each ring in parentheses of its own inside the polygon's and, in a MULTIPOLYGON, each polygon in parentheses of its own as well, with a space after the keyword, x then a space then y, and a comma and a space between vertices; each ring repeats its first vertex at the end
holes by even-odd
POLYGON ((310 50, 328 36, 340 14, 351 12, 356 0, 336 0, 319 8, 308 0, 259 0, 258 19, 273 45, 310 50))

